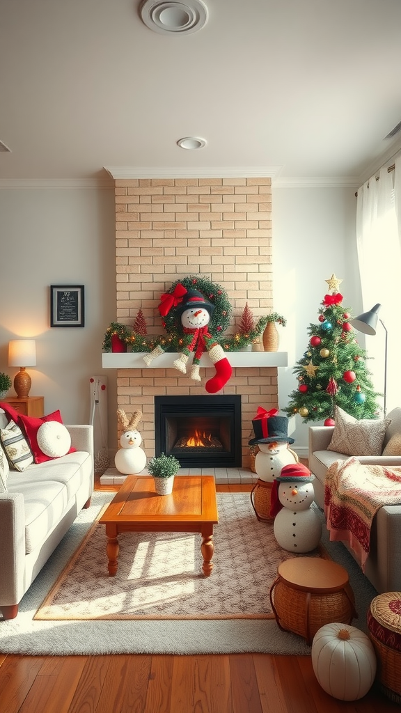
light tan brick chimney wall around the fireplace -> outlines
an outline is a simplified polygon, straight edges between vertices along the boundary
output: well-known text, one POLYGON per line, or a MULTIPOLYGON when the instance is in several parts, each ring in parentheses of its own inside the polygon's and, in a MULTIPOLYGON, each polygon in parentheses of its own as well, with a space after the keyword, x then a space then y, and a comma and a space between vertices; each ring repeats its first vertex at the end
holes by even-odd
MULTIPOLYGON (((270 178, 116 180, 117 321, 132 325, 141 308, 149 334, 163 333, 161 294, 187 275, 224 287, 233 306, 228 333, 246 302, 255 318, 273 309, 270 178)), ((153 396, 204 395, 213 369, 200 373, 197 384, 176 369, 118 369, 118 406, 143 411, 139 430, 147 456, 155 447, 153 396)), ((277 369, 233 369, 221 393, 242 396, 246 468, 257 407, 278 406, 277 369)))

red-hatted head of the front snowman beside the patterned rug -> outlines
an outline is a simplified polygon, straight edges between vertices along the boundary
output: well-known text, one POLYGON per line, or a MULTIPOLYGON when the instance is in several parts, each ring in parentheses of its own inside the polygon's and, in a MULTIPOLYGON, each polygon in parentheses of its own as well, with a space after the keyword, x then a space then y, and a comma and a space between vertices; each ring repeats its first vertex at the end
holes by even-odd
POLYGON ((312 481, 315 476, 303 463, 290 463, 281 469, 270 498, 270 515, 275 517, 281 508, 293 512, 308 510, 315 499, 312 481))

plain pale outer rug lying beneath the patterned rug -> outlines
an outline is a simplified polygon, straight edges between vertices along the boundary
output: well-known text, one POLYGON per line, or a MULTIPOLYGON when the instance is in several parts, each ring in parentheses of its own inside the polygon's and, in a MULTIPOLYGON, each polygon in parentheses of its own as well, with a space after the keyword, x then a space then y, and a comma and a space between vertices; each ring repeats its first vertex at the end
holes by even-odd
MULTIPOLYGON (((248 495, 249 497, 249 495, 248 495)), ((91 508, 82 511, 20 602, 15 620, 0 621, 0 652, 24 655, 225 654, 240 652, 305 655, 303 638, 282 632, 269 618, 35 620, 34 615, 80 547, 94 520, 113 493, 94 493, 91 508)), ((318 511, 320 513, 320 511, 318 511)), ((320 513, 323 519, 323 513, 320 513)), ((253 515, 255 518, 255 515, 253 515)), ((260 523, 263 525, 263 523, 260 523)), ((271 525, 263 525, 266 529, 271 525)), ((216 528, 217 531, 218 528, 216 528)), ((239 545, 240 538, 233 542, 239 545)), ((323 545, 350 574, 359 618, 352 622, 366 632, 367 607, 377 592, 341 543, 323 545)), ((217 545, 216 545, 217 550, 217 545)), ((217 556, 217 554, 216 554, 217 556)), ((217 560, 216 560, 217 561, 217 560)), ((217 565, 215 565, 217 567, 217 565)), ((215 575, 213 572, 212 577, 215 575)), ((211 581, 211 578, 209 578, 211 581)), ((205 578, 202 578, 205 581, 205 578)), ((268 592, 265 592, 268 600, 268 592)))

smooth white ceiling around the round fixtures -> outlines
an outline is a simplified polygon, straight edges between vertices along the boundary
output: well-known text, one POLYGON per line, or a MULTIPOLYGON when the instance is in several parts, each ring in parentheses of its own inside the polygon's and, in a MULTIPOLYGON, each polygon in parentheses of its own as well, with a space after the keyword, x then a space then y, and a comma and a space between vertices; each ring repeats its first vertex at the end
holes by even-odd
POLYGON ((400 0, 205 2, 203 29, 163 35, 141 0, 0 0, 0 179, 352 185, 398 150, 400 0), (191 135, 205 148, 178 148, 191 135))

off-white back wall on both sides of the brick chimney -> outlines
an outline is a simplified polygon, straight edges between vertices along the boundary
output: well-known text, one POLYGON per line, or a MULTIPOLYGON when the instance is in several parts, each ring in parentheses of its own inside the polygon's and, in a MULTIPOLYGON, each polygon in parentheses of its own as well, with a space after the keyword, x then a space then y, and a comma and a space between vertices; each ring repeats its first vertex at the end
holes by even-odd
MULTIPOLYGON (((273 271, 280 350, 289 366, 279 369, 280 407, 296 386, 292 370, 305 352, 310 322, 332 272, 344 280, 344 304, 361 307, 355 251, 355 190, 273 188, 273 271)), ((9 339, 34 337, 37 366, 29 372, 31 395, 45 397, 45 412, 60 409, 65 423, 88 423, 89 378, 108 377, 108 445, 116 446, 116 373, 101 369, 101 343, 116 319, 113 188, 1 188, 0 371, 9 339), (49 286, 83 284, 83 329, 49 327, 49 286)), ((11 394, 14 390, 11 389, 11 394)), ((291 419, 294 447, 308 442, 308 425, 291 419)))

